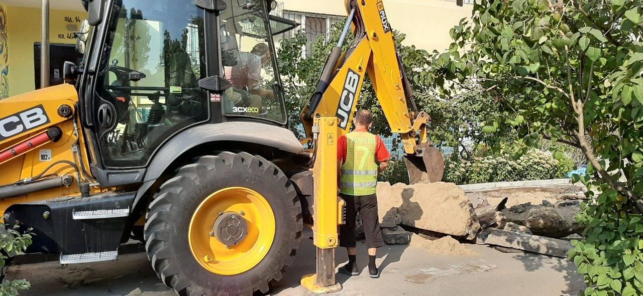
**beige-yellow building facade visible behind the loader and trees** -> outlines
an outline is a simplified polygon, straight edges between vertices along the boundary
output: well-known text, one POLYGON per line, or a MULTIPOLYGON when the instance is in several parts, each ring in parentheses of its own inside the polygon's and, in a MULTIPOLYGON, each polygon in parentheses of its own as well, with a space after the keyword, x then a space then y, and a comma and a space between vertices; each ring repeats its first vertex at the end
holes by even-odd
MULTIPOLYGON (((296 21, 311 40, 347 15, 344 0, 277 1, 273 14, 296 21)), ((448 48, 449 29, 471 16, 473 5, 467 1, 473 0, 463 6, 455 0, 383 0, 392 27, 406 34, 404 43, 428 51, 448 48)), ((52 84, 62 83, 62 62, 80 57, 73 32, 86 15, 80 0, 51 1, 51 58, 57 58, 50 62, 52 84)), ((40 42, 41 0, 0 0, 0 99, 39 87, 40 42)))

